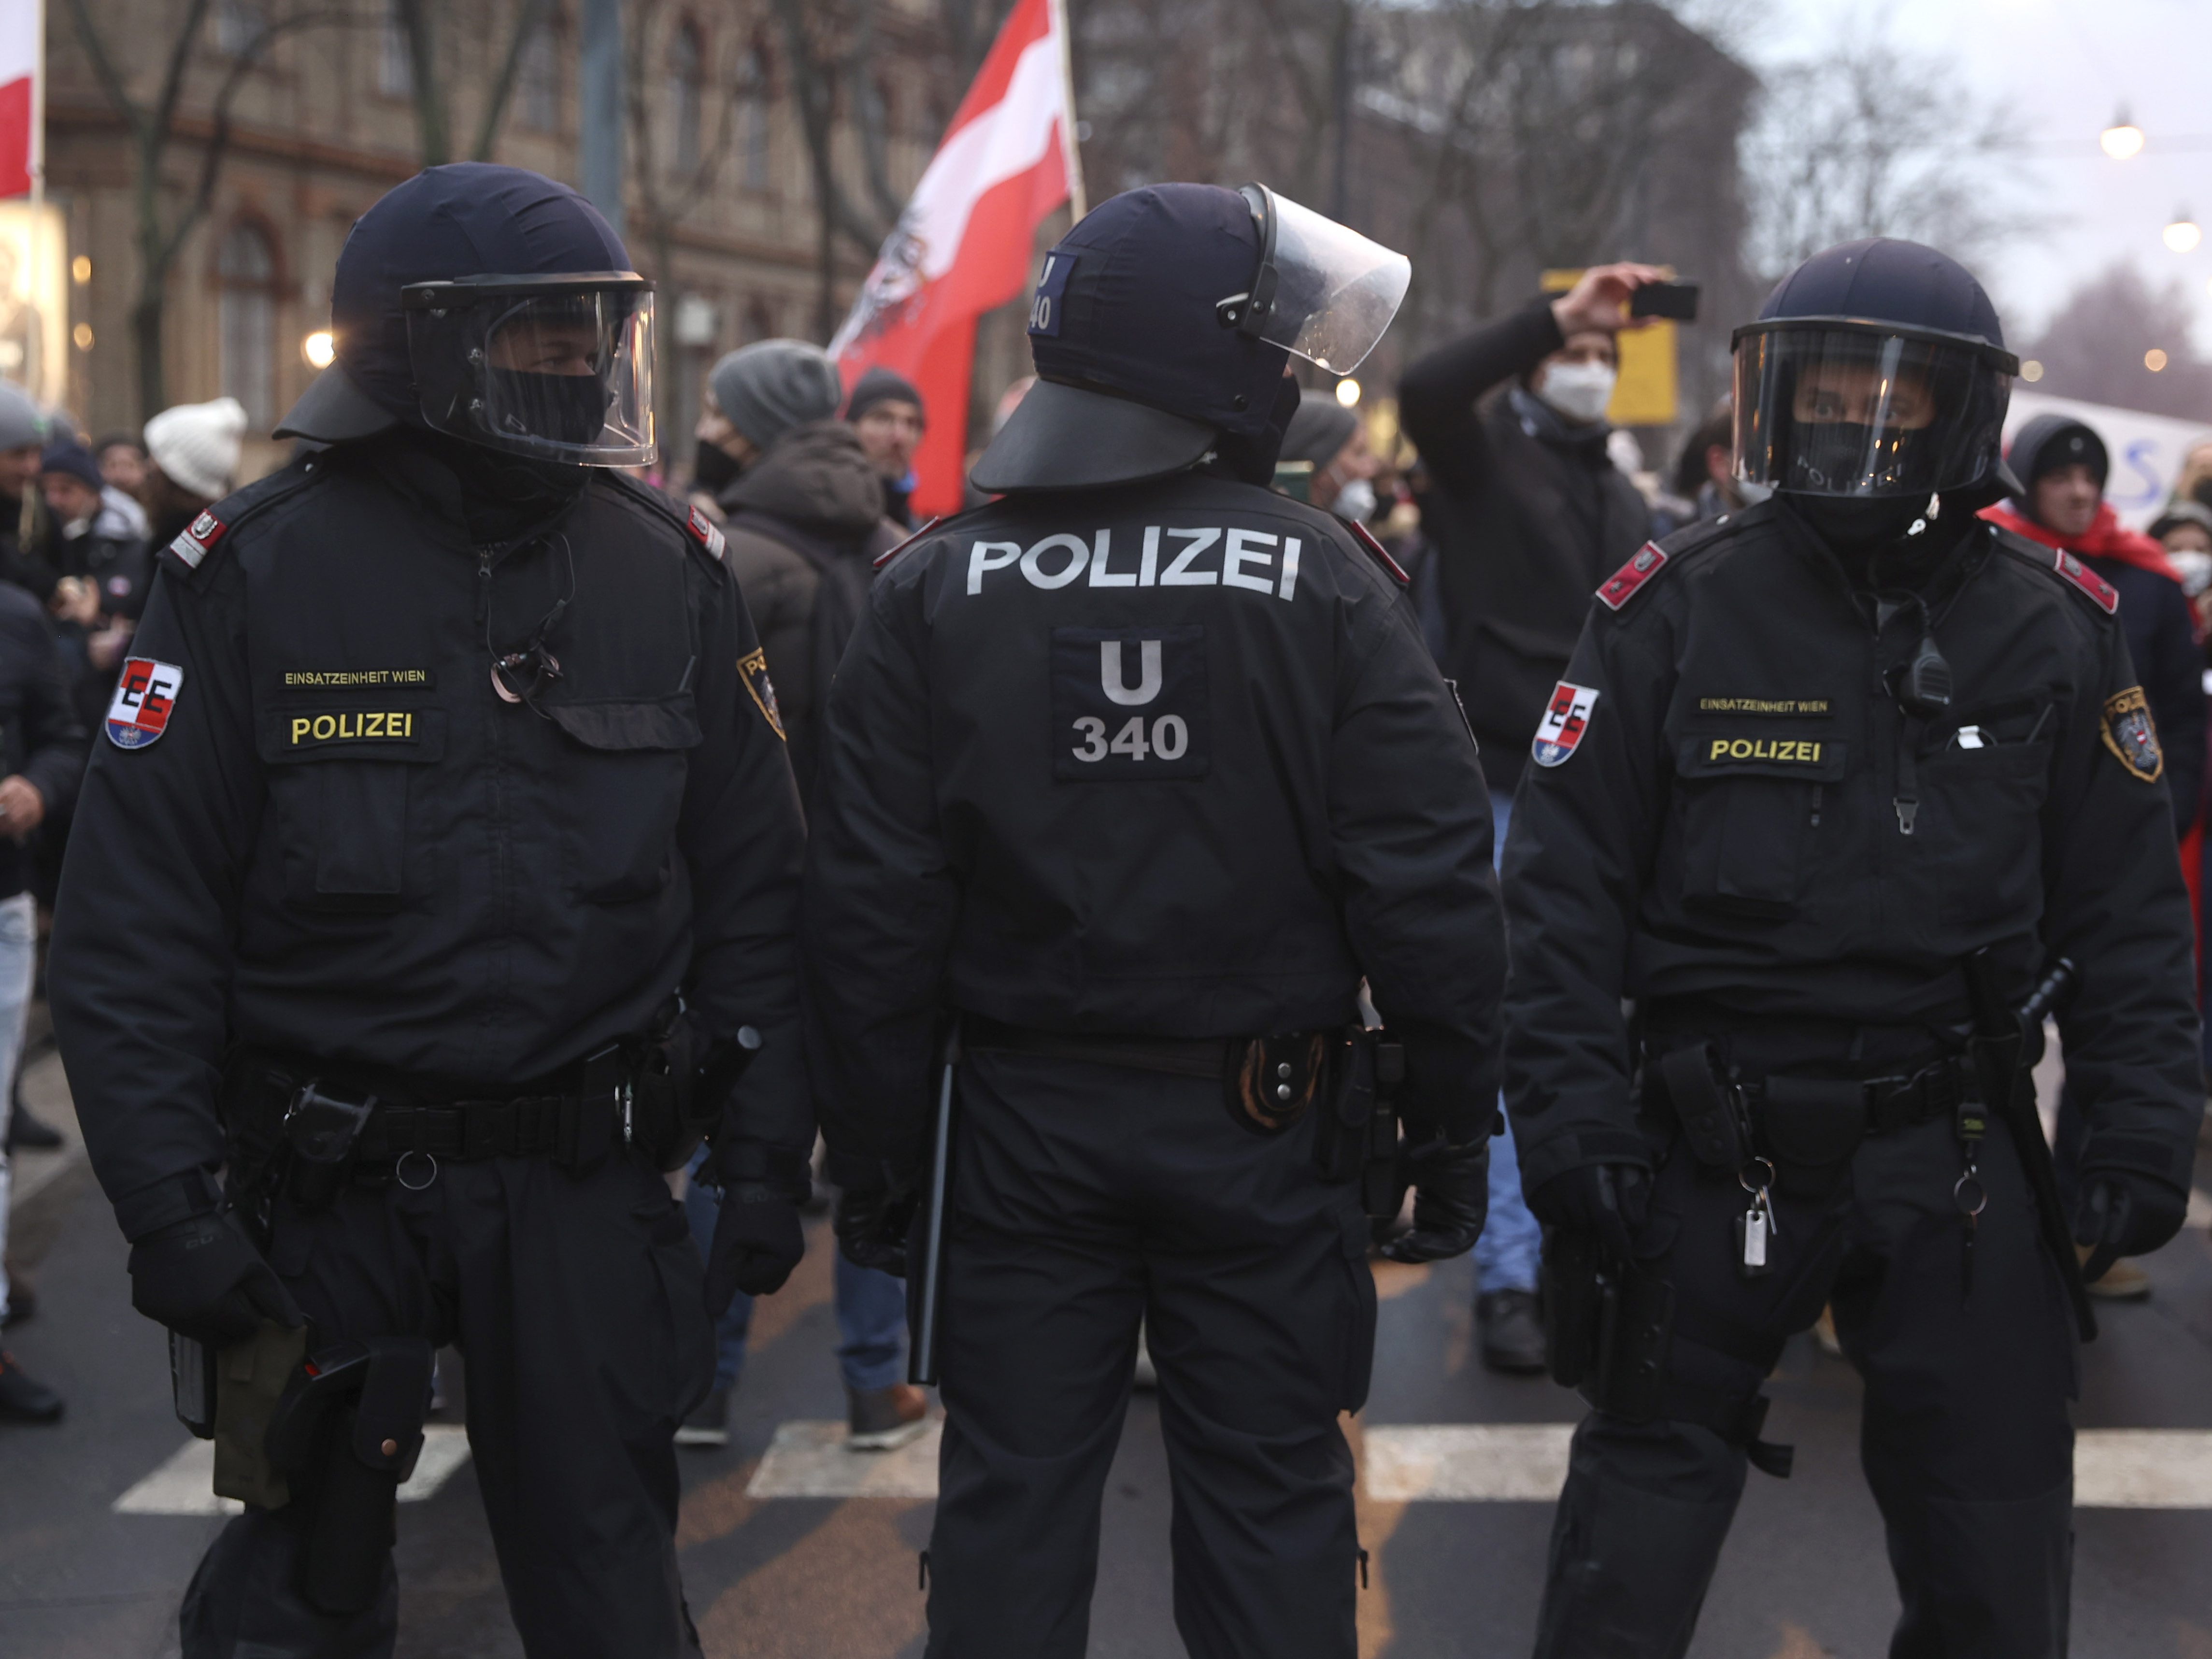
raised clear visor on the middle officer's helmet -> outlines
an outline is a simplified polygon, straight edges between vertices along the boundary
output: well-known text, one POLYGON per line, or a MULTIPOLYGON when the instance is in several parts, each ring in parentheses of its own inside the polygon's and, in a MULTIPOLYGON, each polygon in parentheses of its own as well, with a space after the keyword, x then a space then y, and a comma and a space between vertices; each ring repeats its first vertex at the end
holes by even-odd
POLYGON ((1243 197, 1265 239, 1259 336, 1329 374, 1352 374, 1398 314, 1411 261, 1263 184, 1243 186, 1243 197))

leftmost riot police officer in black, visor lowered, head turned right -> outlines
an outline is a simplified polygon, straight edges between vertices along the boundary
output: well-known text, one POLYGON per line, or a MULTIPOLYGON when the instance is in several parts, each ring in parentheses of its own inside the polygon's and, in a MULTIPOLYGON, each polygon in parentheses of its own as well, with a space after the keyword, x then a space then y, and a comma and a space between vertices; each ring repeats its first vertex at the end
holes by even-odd
POLYGON ((774 692, 719 533, 613 471, 655 453, 653 294, 582 197, 409 179, 332 323, 305 453, 161 553, 53 940, 133 1303, 223 1347, 217 1486, 254 1495, 184 1652, 392 1652, 392 1493, 456 1343, 524 1650, 697 1655, 672 1433, 710 1298, 661 1170, 710 1135, 708 1283, 783 1283, 774 692), (261 1436, 230 1389, 270 1354, 261 1436))

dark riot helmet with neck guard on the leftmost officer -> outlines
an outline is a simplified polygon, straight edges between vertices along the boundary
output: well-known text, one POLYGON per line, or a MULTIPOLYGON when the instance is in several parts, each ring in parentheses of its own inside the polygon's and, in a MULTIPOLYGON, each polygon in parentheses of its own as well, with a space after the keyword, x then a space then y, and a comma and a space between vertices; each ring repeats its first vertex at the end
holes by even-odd
POLYGON ((460 161, 354 223, 330 288, 338 361, 279 436, 414 425, 533 460, 655 456, 653 283, 599 210, 524 168, 460 161))

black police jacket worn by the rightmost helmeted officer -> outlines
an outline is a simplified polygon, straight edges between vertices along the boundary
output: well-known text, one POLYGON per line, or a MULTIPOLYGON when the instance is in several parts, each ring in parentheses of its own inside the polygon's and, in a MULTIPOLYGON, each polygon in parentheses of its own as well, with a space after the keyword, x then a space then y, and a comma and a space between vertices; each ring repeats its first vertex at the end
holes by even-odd
POLYGON ((1911 719, 1885 681, 1918 606, 1854 591, 1778 504, 1659 549, 1590 613, 1575 710, 1546 721, 1506 836, 1506 1104, 1528 1190, 1648 1159, 1624 998, 1657 1029, 1936 1044, 1971 1020, 1962 960, 1984 945, 2013 1000, 2053 958, 2079 967, 2059 1029, 2084 1170, 2185 1190, 2203 1113, 2190 909, 2117 595, 1975 522, 1920 591, 1951 706, 1911 719))

